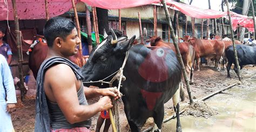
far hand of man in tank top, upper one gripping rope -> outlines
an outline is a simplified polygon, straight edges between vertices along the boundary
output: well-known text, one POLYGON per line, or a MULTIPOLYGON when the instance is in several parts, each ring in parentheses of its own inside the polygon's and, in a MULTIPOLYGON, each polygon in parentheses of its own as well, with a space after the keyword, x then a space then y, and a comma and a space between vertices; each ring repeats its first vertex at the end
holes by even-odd
POLYGON ((112 96, 114 99, 121 98, 121 93, 117 90, 116 87, 110 87, 106 89, 99 89, 99 93, 101 96, 112 96))

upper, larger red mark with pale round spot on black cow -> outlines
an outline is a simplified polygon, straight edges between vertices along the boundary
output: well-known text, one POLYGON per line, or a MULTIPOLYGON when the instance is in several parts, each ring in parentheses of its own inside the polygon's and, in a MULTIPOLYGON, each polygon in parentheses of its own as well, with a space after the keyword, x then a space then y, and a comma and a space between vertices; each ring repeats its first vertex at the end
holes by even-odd
POLYGON ((168 67, 165 57, 169 52, 165 49, 157 48, 151 50, 138 69, 140 76, 154 83, 163 82, 168 78, 168 67))

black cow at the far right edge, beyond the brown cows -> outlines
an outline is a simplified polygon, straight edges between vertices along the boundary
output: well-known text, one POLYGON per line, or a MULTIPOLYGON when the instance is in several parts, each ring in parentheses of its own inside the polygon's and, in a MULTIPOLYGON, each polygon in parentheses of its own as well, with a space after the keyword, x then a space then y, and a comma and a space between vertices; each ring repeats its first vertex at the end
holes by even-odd
MULTIPOLYGON (((240 65, 240 69, 242 69, 243 65, 247 64, 256 64, 256 47, 251 47, 247 45, 237 45, 237 56, 238 56, 238 62, 240 65)), ((238 69, 237 65, 235 64, 235 58, 234 58, 234 50, 233 46, 227 47, 225 50, 225 54, 228 60, 227 63, 227 77, 230 77, 230 68, 232 63, 234 63, 234 71, 238 75, 238 69)))

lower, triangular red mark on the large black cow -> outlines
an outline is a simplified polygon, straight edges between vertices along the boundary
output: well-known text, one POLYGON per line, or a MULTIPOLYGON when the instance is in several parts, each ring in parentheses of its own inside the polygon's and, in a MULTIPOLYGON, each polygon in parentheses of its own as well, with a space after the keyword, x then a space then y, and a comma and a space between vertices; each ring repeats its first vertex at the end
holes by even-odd
POLYGON ((146 90, 140 90, 142 92, 142 97, 146 100, 147 108, 152 111, 156 105, 156 101, 163 92, 147 92, 146 90))

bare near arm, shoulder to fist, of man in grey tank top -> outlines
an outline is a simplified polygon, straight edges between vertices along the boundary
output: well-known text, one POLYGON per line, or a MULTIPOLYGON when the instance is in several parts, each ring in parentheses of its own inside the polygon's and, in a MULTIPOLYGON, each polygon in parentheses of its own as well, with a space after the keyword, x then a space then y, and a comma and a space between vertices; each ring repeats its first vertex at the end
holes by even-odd
POLYGON ((111 99, 108 96, 100 98, 92 105, 79 105, 76 77, 66 64, 58 64, 48 69, 45 73, 44 83, 49 85, 58 106, 70 123, 85 121, 98 112, 112 107, 111 99))

